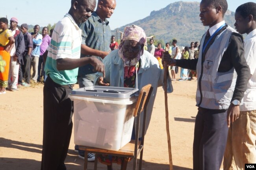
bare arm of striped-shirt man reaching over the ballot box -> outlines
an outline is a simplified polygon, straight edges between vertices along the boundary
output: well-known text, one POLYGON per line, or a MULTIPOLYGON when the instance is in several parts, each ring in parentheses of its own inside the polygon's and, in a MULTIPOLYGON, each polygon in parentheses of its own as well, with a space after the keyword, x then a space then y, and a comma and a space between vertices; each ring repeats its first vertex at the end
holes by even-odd
POLYGON ((105 67, 104 64, 95 57, 82 57, 80 59, 57 59, 57 69, 58 70, 72 70, 77 67, 82 67, 87 64, 93 65, 95 71, 102 72, 103 77, 105 77, 105 67))

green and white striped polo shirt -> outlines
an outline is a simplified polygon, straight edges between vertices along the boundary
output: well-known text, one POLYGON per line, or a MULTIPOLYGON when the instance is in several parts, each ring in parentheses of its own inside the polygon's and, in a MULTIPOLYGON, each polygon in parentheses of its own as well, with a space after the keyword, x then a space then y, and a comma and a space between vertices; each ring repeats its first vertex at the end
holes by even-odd
POLYGON ((45 63, 46 75, 60 85, 74 84, 77 81, 78 68, 57 70, 57 59, 79 59, 82 43, 82 31, 70 14, 66 14, 55 26, 45 63))

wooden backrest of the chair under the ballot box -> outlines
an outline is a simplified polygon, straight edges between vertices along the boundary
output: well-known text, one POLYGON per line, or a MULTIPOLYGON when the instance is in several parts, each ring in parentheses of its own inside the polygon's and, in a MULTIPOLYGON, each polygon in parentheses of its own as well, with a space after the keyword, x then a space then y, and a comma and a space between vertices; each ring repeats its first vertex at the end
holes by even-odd
POLYGON ((137 116, 137 113, 141 113, 143 111, 146 99, 150 97, 148 96, 150 88, 151 88, 151 84, 145 85, 144 87, 141 88, 141 91, 139 92, 139 97, 135 106, 135 110, 134 110, 134 117, 137 116), (141 105, 141 109, 139 109, 140 105, 141 105))

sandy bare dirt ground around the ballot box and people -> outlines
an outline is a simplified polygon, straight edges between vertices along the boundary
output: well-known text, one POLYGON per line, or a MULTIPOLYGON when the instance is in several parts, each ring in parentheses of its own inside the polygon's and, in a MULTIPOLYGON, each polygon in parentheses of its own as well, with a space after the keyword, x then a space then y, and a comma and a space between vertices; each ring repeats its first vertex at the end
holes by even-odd
MULTIPOLYGON (((197 107, 197 82, 173 81, 168 94, 171 148, 174 170, 193 167, 192 145, 197 107)), ((75 86, 78 88, 78 85, 75 86)), ((43 141, 43 84, 7 91, 0 95, 0 170, 39 170, 43 141)), ((165 129, 164 92, 158 88, 150 126, 145 136, 144 170, 168 170, 169 157, 165 129)), ((68 170, 82 170, 83 160, 74 152, 72 134, 66 158, 68 170)), ((132 169, 133 162, 128 163, 132 169)), ((89 163, 89 170, 93 163, 89 163)), ((106 169, 98 164, 98 169, 106 169)), ((120 169, 114 165, 114 169, 120 169)))

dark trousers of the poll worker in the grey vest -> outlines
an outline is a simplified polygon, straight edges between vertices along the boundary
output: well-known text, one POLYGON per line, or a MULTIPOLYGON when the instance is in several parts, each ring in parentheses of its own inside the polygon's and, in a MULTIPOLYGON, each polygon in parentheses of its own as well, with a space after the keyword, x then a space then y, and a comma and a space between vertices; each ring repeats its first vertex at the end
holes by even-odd
POLYGON ((195 121, 193 169, 219 170, 227 136, 226 112, 199 107, 195 121))

